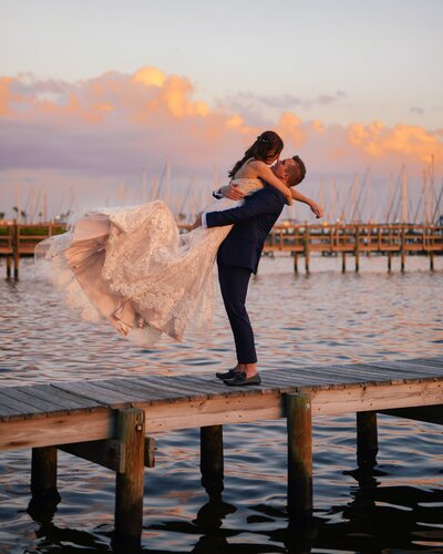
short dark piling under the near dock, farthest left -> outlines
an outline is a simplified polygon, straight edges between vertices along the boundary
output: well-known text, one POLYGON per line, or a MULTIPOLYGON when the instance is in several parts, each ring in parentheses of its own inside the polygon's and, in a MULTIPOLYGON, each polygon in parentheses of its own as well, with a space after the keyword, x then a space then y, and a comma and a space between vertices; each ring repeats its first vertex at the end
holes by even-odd
POLYGON ((31 493, 33 496, 58 496, 56 491, 56 448, 32 449, 31 493))

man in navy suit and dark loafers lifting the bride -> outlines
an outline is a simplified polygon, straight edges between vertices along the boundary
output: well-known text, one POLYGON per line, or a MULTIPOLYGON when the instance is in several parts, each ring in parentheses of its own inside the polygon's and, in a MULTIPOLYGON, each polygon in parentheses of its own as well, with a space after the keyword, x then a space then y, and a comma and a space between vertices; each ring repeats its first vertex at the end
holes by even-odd
MULTIPOLYGON (((288 187, 301 183, 306 175, 305 164, 298 156, 277 162, 272 171, 288 187)), ((228 186, 223 193, 234 199, 241 197, 241 194, 236 194, 233 186, 228 186)), ((306 202, 307 198, 300 195, 297 199, 306 202)), ((250 275, 257 273, 266 237, 284 206, 284 194, 268 185, 251 196, 247 196, 243 206, 204 214, 195 223, 195 227, 199 225, 220 227, 234 224, 217 253, 218 280, 234 335, 238 361, 236 368, 225 373, 217 373, 217 377, 233 387, 261 382, 257 372, 254 331, 245 301, 250 275)), ((315 212, 312 205, 311 209, 315 212)))

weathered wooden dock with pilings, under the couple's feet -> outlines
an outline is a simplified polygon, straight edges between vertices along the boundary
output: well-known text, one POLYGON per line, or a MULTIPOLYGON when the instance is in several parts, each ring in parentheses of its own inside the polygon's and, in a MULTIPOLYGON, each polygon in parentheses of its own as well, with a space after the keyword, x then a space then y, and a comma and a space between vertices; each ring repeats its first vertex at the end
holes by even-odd
MULTIPOLYGON (((443 424, 443 356, 261 371, 230 388, 213 375, 52 382, 0 390, 0 451, 32 449, 33 499, 58 495, 56 451, 115 471, 115 541, 140 542, 155 435, 200 428, 202 482, 223 490, 223 425, 286 418, 288 513, 312 511, 312 418, 357 413, 361 471, 377 461, 377 413, 443 424)), ((441 445, 435 445, 441 449, 441 445)), ((301 527, 300 527, 301 529, 301 527)))

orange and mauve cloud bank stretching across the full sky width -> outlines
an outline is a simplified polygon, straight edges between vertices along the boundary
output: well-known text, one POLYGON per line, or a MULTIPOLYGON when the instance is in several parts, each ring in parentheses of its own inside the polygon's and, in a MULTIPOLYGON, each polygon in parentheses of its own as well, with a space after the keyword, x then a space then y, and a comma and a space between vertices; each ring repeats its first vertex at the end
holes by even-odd
POLYGON ((291 95, 239 94, 237 105, 210 105, 196 98, 186 76, 141 68, 133 74, 106 72, 78 82, 38 80, 31 74, 0 78, 0 164, 3 170, 51 170, 82 175, 158 175, 166 160, 176 174, 225 174, 265 129, 279 132, 323 171, 359 171, 409 163, 422 168, 443 161, 443 131, 381 121, 348 126, 302 120, 293 106, 330 104, 343 91, 307 100, 291 95), (276 107, 275 121, 256 106, 276 107), (246 107, 245 107, 246 106, 246 107))

